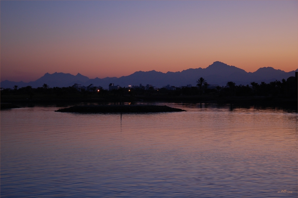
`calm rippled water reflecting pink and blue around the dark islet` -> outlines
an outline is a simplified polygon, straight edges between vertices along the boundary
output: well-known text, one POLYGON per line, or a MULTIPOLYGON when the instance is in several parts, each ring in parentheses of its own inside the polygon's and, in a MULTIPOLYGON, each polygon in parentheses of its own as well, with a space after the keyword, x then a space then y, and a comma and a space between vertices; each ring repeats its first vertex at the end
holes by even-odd
POLYGON ((297 113, 166 105, 1 110, 1 197, 297 197, 297 113))

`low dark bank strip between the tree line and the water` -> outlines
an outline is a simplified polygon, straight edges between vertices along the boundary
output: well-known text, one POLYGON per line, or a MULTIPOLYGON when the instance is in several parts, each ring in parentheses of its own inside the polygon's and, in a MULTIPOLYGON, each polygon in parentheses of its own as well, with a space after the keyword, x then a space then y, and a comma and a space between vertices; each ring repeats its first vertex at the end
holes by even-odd
POLYGON ((134 97, 122 96, 119 97, 90 97, 90 98, 54 98, 47 95, 30 98, 15 98, 13 96, 2 97, 1 103, 77 103, 77 102, 196 102, 196 103, 218 103, 218 104, 282 104, 298 102, 297 98, 285 96, 216 96, 216 95, 201 95, 201 96, 143 96, 137 95, 134 97))

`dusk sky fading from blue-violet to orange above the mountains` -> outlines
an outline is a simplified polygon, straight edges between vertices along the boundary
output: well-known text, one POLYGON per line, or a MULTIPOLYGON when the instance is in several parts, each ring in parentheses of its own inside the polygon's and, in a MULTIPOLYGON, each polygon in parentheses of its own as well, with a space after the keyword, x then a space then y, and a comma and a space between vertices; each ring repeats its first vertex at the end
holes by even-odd
POLYGON ((298 68, 298 1, 0 1, 0 80, 298 68))

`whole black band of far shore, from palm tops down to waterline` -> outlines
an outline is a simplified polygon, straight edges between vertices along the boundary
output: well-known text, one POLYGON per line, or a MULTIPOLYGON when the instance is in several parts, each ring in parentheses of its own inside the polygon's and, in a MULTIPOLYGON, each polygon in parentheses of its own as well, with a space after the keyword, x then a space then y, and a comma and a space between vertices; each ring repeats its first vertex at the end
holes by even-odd
MULTIPOLYGON (((199 78, 197 86, 180 87, 175 90, 166 88, 149 89, 119 87, 113 90, 97 88, 86 91, 78 90, 74 86, 49 88, 32 88, 31 86, 12 89, 2 89, 1 103, 75 103, 75 102, 195 102, 217 104, 243 104, 243 105, 291 105, 297 106, 297 76, 287 80, 251 82, 250 85, 236 85, 227 82, 226 86, 211 87, 206 79, 199 78)), ((1 105, 4 107, 5 105, 1 105)), ((13 107, 13 106, 12 106, 13 107)))

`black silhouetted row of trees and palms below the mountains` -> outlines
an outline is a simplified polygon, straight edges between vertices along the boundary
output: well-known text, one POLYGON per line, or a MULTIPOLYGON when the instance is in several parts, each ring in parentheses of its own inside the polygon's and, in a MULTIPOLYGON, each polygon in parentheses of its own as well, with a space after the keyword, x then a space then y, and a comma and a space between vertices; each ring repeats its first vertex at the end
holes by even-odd
POLYGON ((227 82, 226 86, 216 86, 210 88, 209 83, 203 77, 196 81, 196 87, 182 87, 176 88, 176 90, 167 90, 166 88, 160 88, 154 90, 133 89, 133 88, 119 88, 118 90, 103 90, 98 92, 94 90, 86 91, 84 89, 77 90, 74 87, 53 87, 49 88, 47 84, 42 87, 32 88, 31 86, 18 88, 17 85, 13 89, 1 90, 2 95, 27 95, 30 99, 34 95, 56 95, 58 98, 73 98, 73 97, 88 97, 95 96, 101 97, 109 95, 110 97, 122 97, 122 96, 194 96, 194 95, 216 95, 216 96, 284 96, 284 97, 297 97, 297 77, 290 77, 287 80, 272 81, 270 83, 251 82, 249 85, 236 85, 235 82, 227 82))

